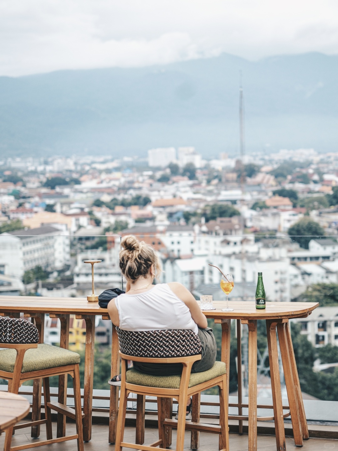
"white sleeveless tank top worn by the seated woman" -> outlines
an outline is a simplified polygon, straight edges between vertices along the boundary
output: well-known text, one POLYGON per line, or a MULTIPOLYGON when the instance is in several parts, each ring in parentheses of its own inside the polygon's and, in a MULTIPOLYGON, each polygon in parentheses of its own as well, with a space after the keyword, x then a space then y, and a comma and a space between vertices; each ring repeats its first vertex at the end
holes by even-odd
POLYGON ((198 326, 189 308, 167 284, 155 285, 145 293, 122 294, 115 298, 119 311, 120 329, 154 331, 190 329, 197 335, 198 326))

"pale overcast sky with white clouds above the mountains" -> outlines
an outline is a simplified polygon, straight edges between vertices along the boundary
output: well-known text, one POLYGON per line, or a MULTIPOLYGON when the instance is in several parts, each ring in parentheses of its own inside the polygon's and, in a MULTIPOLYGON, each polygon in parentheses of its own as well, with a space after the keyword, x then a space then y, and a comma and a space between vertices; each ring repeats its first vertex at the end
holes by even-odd
POLYGON ((338 54, 337 0, 1 0, 0 75, 338 54))

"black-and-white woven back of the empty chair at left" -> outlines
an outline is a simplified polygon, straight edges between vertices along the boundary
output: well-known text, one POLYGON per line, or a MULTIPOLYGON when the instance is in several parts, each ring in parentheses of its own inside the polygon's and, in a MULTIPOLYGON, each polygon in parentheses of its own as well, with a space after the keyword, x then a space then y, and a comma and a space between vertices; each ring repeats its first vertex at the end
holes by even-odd
POLYGON ((37 328, 25 319, 0 317, 0 344, 27 345, 39 342, 37 328))

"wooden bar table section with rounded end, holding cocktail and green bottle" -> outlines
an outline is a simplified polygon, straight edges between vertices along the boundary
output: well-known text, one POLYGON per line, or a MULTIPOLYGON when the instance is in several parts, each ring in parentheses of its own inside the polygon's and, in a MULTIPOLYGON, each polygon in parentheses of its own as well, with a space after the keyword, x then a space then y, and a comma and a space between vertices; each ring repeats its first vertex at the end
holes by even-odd
MULTIPOLYGON (((318 303, 311 302, 267 302, 263 310, 256 309, 255 302, 229 301, 232 312, 222 312, 225 301, 214 301, 215 310, 204 310, 207 318, 212 318, 215 323, 222 326, 222 353, 221 359, 230 366, 230 320, 237 319, 248 327, 248 351, 249 351, 249 384, 248 384, 248 416, 242 415, 241 397, 238 397, 238 415, 232 416, 240 422, 248 421, 248 450, 257 450, 257 320, 265 320, 269 349, 269 364, 271 375, 272 401, 274 410, 274 424, 276 431, 276 446, 278 451, 285 451, 284 415, 279 377, 279 358, 277 348, 277 334, 279 348, 283 363, 285 385, 288 393, 289 409, 292 420, 292 429, 296 446, 303 445, 303 439, 309 438, 306 423, 301 387, 297 373, 296 360, 293 352, 289 320, 292 318, 306 318, 318 307, 318 303)), ((240 327, 237 329, 240 331, 240 327)), ((240 336, 238 337, 240 340, 240 336)), ((239 347, 240 349, 240 347, 239 347)), ((239 362, 239 368, 240 368, 239 362)), ((240 373, 240 372, 239 372, 240 373)), ((227 373, 229 381, 229 372, 227 373)), ((198 400, 196 399, 197 403, 198 400)), ((266 406, 265 406, 266 407, 266 406)), ((267 418, 260 418, 266 420, 267 418)), ((196 421, 193 418, 192 421, 196 421)), ((192 443, 192 448, 198 447, 198 437, 192 443)))

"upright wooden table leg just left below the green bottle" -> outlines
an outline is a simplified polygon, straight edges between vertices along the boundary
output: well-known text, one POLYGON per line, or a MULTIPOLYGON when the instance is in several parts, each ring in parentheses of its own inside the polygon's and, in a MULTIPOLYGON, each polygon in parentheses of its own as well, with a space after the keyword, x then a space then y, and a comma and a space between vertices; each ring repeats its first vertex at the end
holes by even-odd
POLYGON ((242 324, 247 324, 249 330, 249 418, 248 435, 249 451, 257 451, 257 320, 245 319, 242 324))

